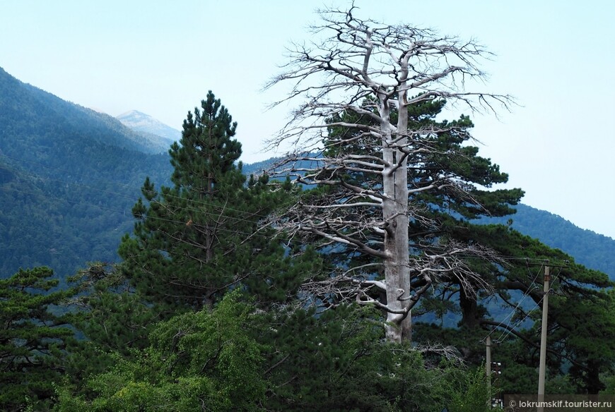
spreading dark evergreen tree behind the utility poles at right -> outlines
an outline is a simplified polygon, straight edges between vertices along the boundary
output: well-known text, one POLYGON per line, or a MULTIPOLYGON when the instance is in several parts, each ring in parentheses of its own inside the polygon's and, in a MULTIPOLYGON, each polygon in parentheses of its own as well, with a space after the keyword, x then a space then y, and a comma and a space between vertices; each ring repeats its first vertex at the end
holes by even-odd
MULTIPOLYGON (((611 339, 615 316, 608 291, 613 282, 607 275, 575 264, 573 257, 561 250, 549 248, 508 226, 460 223, 452 231, 459 238, 488 245, 506 259, 474 265, 493 285, 494 293, 490 296, 462 299, 459 289, 437 291, 433 300, 445 301, 451 313, 461 315, 461 328, 417 323, 419 343, 446 341, 457 346, 467 361, 479 364, 484 356, 481 341, 493 331, 498 361, 506 365, 500 379, 504 393, 535 390, 544 298, 542 274, 544 265, 552 265, 547 325, 549 393, 591 394, 604 388, 603 374, 612 371, 615 353, 611 339)), ((429 309, 424 305, 426 302, 423 301, 423 310, 429 309)), ((447 311, 440 316, 454 318, 447 311)))

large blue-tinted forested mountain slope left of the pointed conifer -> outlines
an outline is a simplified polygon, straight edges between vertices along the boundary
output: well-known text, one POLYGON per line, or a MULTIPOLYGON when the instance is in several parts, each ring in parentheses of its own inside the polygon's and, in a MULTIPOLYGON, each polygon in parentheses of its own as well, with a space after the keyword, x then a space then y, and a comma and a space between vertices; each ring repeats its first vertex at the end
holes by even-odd
POLYGON ((117 260, 146 176, 168 184, 159 152, 117 119, 0 68, 0 277, 48 265, 64 278, 117 260))

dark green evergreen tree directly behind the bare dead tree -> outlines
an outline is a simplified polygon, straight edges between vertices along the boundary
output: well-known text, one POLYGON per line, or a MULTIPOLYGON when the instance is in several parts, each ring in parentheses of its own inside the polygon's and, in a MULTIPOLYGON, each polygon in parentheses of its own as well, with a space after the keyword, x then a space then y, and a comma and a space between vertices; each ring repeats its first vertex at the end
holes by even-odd
MULTIPOLYGON (((472 253, 472 245, 480 244, 478 237, 467 236, 459 226, 467 230, 466 222, 469 219, 476 219, 481 216, 504 216, 513 214, 515 210, 510 207, 516 205, 523 195, 522 190, 498 189, 493 190, 493 186, 498 183, 506 183, 508 174, 500 171, 497 164, 493 164, 491 159, 479 156, 479 148, 469 145, 472 141, 470 130, 474 124, 468 116, 460 116, 454 121, 440 120, 438 117, 445 108, 445 99, 433 99, 426 102, 419 102, 407 107, 407 118, 409 128, 412 130, 430 131, 425 133, 421 145, 407 157, 407 162, 411 166, 408 168, 407 179, 412 188, 421 188, 428 182, 437 181, 438 178, 446 176, 463 190, 455 188, 453 184, 443 184, 430 190, 417 190, 409 196, 409 213, 412 219, 409 220, 408 238, 410 243, 410 254, 413 262, 418 262, 422 255, 439 255, 447 247, 447 244, 455 243, 466 248, 464 255, 477 255, 472 253), (429 148, 429 150, 428 150, 429 148), (462 233, 458 233, 462 232, 462 233)), ((348 128, 344 125, 363 125, 365 128, 376 126, 376 121, 369 115, 375 111, 373 99, 365 99, 361 104, 365 109, 364 114, 354 111, 344 111, 327 119, 329 123, 327 137, 323 140, 326 150, 323 152, 323 159, 328 159, 331 164, 336 164, 336 159, 343 159, 348 154, 366 158, 380 158, 382 154, 374 150, 378 138, 365 133, 361 128, 348 128)), ((397 109, 391 109, 390 118, 392 122, 397 121, 397 109)), ((332 178, 337 178, 344 182, 346 186, 368 188, 373 185, 373 176, 363 171, 360 167, 331 167, 332 178)), ((324 172, 318 178, 324 179, 324 172)), ((306 194, 309 200, 305 203, 326 203, 330 199, 339 199, 345 202, 344 187, 322 185, 312 193, 306 194), (322 200, 319 200, 322 199, 322 200)), ((368 193, 368 190, 365 190, 368 193)), ((357 202, 366 202, 368 195, 357 202)), ((341 209, 341 208, 340 208, 341 209)), ((379 218, 380 211, 373 207, 363 210, 361 214, 356 213, 356 219, 373 221, 379 218)), ((339 212, 341 215, 344 212, 339 212)), ((377 234, 365 226, 361 231, 361 238, 367 239, 367 244, 377 244, 379 238, 377 234)), ((364 240, 365 241, 365 240, 364 240)), ((382 270, 373 270, 377 260, 367 253, 356 253, 354 245, 339 245, 336 248, 329 248, 327 242, 323 242, 324 250, 332 258, 337 267, 356 268, 356 272, 363 271, 363 276, 367 279, 382 279, 382 270), (367 269, 365 269, 367 268, 367 269), (370 272, 371 271, 371 272, 370 272)), ((479 248, 476 248, 479 250, 479 248)), ((488 255, 488 254, 485 254, 488 255)), ((461 260, 457 260, 460 263, 461 260)), ((482 263, 484 265, 485 262, 482 263)), ((448 293, 455 289, 459 295, 463 296, 463 303, 472 300, 474 293, 486 286, 486 280, 491 279, 486 276, 481 265, 473 265, 468 262, 459 265, 459 270, 438 270, 437 277, 433 278, 432 289, 438 289, 438 285, 445 285, 448 293), (472 272, 480 274, 480 277, 464 276, 463 270, 472 269, 472 272), (460 275, 461 274, 461 275, 460 275)), ((442 268, 440 268, 442 269, 442 268)), ((413 279, 411 289, 421 290, 425 286, 425 280, 421 277, 413 279)), ((373 288, 375 289, 375 288, 373 288)), ((349 289, 351 293, 356 289, 349 289)), ((329 293, 329 290, 322 289, 319 296, 325 303, 335 304, 339 298, 346 298, 339 293, 329 293)), ((384 302, 384 296, 379 291, 370 291, 372 298, 384 302)), ((447 306, 446 301, 441 298, 435 300, 429 295, 425 297, 426 305, 430 310, 443 310, 447 306), (438 308, 439 306, 439 308, 438 308)), ((420 311, 419 311, 420 312, 420 311)))

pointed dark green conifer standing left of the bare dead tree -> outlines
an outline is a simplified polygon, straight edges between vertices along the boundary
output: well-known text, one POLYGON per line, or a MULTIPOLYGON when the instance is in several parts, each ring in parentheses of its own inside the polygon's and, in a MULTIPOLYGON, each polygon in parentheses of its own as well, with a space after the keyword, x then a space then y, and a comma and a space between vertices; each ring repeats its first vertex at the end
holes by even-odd
POLYGON ((274 192, 266 176, 246 182, 236 128, 210 91, 170 149, 174 186, 158 192, 146 179, 144 200, 133 208, 134 237, 124 236, 119 255, 149 301, 201 308, 239 285, 258 301, 284 300, 293 289, 289 282, 298 272, 280 265, 283 248, 270 232, 257 230, 288 198, 290 185, 274 192))

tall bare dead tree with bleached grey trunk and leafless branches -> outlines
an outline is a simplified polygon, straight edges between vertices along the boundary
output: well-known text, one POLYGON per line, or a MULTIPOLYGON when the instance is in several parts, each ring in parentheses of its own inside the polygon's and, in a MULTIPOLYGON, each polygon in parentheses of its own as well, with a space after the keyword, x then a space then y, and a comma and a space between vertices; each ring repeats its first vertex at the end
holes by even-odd
POLYGON ((454 243, 429 250, 411 246, 409 224, 426 219, 420 202, 414 201, 419 195, 432 191, 474 200, 468 183, 455 174, 412 177, 411 171, 426 168, 426 159, 438 152, 434 136, 467 131, 454 124, 440 130, 409 128, 409 108, 447 99, 472 110, 495 111, 495 104, 508 109, 512 100, 466 90, 468 83, 484 77, 478 61, 489 56, 476 42, 440 37, 410 25, 360 20, 356 11, 354 6, 348 11, 320 11, 322 25, 312 29, 314 37, 324 40, 293 44, 291 61, 266 86, 290 82, 291 92, 276 104, 303 102, 269 142, 290 142, 298 148, 277 165, 277 172, 293 174, 298 183, 330 188, 320 197, 303 198, 276 226, 297 236, 320 238, 321 245, 342 245, 348 253, 368 255, 364 265, 308 282, 307 292, 328 288, 339 296, 352 295, 358 303, 377 305, 387 313, 387 339, 400 342, 410 339, 411 309, 438 277, 481 284, 456 256, 485 252, 454 243), (358 118, 363 120, 348 120, 358 118), (328 133, 334 127, 353 133, 335 138, 328 133), (361 179, 352 177, 357 175, 361 179), (382 280, 374 277, 377 266, 382 280), (382 298, 374 289, 382 291, 382 298))

